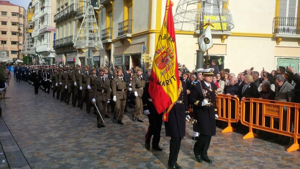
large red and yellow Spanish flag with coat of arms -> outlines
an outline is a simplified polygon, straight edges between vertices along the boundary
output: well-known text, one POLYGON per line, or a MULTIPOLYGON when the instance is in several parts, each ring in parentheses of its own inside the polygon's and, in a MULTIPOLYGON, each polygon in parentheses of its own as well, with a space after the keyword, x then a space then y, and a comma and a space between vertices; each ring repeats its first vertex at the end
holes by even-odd
MULTIPOLYGON (((172 14, 173 2, 167 0, 164 22, 152 63, 149 93, 158 113, 162 113, 178 99, 178 63, 175 29, 172 14)), ((170 109, 168 109, 170 110, 170 109)))

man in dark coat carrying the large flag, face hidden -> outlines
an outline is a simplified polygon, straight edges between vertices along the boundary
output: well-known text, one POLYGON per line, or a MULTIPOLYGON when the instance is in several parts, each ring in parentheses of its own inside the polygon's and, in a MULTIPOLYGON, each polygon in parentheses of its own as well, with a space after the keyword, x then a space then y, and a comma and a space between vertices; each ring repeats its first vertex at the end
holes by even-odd
POLYGON ((185 136, 185 116, 188 113, 188 101, 186 83, 183 80, 181 80, 180 83, 179 90, 181 90, 181 92, 179 98, 168 113, 167 121, 165 121, 166 136, 171 137, 168 161, 169 168, 181 168, 181 166, 177 164, 177 158, 181 140, 185 136))

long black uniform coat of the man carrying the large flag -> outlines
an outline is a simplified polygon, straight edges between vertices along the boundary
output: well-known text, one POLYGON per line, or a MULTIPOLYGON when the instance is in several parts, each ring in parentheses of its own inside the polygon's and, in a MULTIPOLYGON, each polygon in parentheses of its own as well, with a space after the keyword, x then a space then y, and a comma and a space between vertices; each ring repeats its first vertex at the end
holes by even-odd
MULTIPOLYGON (((182 82, 182 91, 179 95, 177 102, 169 112, 168 122, 165 122, 166 136, 180 137, 185 136, 185 116, 188 111, 187 105, 187 85, 182 82)), ((176 91, 177 92, 177 91, 176 91)))

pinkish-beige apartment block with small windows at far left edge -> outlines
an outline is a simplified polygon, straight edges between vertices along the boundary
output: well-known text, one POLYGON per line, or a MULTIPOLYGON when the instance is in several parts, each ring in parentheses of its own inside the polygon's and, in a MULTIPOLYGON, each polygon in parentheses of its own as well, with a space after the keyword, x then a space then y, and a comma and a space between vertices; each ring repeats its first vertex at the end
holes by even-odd
POLYGON ((0 50, 4 50, 7 56, 0 60, 23 59, 20 52, 26 37, 27 12, 23 7, 8 1, 0 1, 0 12, 0 50))

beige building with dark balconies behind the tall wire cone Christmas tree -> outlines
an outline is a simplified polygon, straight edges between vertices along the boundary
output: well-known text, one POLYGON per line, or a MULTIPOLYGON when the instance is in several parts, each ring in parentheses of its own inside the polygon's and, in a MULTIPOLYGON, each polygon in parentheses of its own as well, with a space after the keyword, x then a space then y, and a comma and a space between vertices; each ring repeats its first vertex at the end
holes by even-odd
MULTIPOLYGON (((73 45, 76 35, 80 29, 82 20, 87 11, 88 2, 79 0, 57 0, 54 22, 56 23, 55 44, 56 59, 58 63, 82 64, 86 63, 85 50, 76 50, 73 45)), ((94 7, 95 17, 98 22, 99 2, 91 0, 94 7)), ((99 23, 98 23, 99 24, 99 23)), ((100 51, 93 51, 94 60, 97 62, 100 58, 100 51)), ((99 63, 98 63, 99 64, 99 63)))

